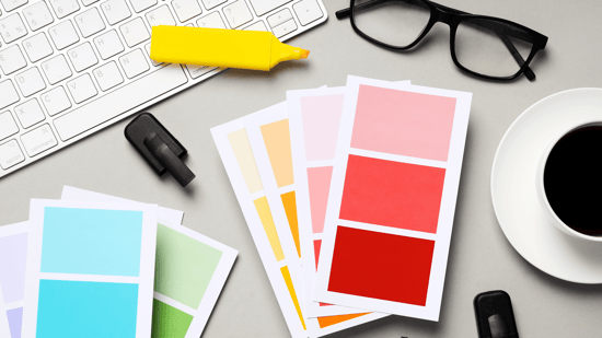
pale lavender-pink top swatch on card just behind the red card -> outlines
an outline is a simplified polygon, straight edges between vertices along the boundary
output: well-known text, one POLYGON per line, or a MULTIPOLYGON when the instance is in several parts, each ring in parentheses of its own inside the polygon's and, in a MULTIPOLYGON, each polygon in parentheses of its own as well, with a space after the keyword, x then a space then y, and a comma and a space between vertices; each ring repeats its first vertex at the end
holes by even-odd
POLYGON ((335 158, 344 98, 343 94, 301 97, 308 161, 335 158))

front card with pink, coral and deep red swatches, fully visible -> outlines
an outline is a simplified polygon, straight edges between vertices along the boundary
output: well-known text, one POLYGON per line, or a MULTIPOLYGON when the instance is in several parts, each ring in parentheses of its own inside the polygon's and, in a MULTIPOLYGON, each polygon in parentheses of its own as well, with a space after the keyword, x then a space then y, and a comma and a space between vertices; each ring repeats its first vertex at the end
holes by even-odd
POLYGON ((347 90, 314 300, 438 320, 472 94, 347 90))

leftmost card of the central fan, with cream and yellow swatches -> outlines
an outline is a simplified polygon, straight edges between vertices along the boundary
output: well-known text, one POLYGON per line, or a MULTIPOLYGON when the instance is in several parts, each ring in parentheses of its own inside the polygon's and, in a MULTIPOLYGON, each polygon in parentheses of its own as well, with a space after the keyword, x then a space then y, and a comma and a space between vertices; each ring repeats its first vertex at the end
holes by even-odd
MULTIPOLYGON (((293 287, 291 277, 291 270, 300 269, 300 267, 291 266, 289 261, 289 259, 293 261, 299 257, 294 240, 292 240, 290 230, 288 230, 288 234, 286 232, 280 234, 277 230, 247 130, 244 128, 245 120, 262 118, 285 107, 286 104, 282 103, 259 110, 215 127, 211 129, 211 133, 291 336, 293 338, 321 337, 374 320, 378 316, 373 314, 350 315, 317 319, 306 319, 303 316, 298 291, 293 287), (288 243, 286 248, 283 248, 283 243, 288 243), (288 256, 285 255, 285 250, 289 253, 288 256), (292 257, 290 257, 290 253, 292 253, 292 257), (317 329, 314 330, 313 327, 317 327, 317 329)), ((286 228, 280 226, 279 230, 282 231, 286 228)))

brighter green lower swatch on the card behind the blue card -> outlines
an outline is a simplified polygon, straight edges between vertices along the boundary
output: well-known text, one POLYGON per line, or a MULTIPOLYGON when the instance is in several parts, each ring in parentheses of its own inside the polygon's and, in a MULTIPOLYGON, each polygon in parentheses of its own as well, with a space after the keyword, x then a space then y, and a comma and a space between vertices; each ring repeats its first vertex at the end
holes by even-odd
POLYGON ((192 322, 189 314, 153 300, 151 338, 183 338, 192 322))

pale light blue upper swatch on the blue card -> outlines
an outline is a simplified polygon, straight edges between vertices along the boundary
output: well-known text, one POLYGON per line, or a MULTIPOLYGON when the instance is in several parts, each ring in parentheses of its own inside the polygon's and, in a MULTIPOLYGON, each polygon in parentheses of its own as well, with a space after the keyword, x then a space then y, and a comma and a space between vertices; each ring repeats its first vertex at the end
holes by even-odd
POLYGON ((140 275, 142 211, 44 209, 42 272, 140 275))

